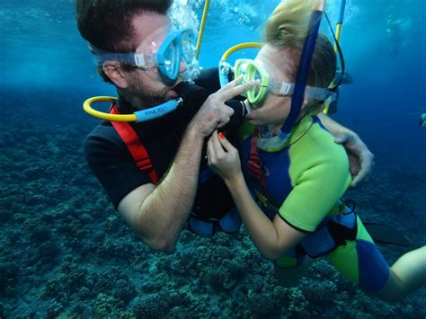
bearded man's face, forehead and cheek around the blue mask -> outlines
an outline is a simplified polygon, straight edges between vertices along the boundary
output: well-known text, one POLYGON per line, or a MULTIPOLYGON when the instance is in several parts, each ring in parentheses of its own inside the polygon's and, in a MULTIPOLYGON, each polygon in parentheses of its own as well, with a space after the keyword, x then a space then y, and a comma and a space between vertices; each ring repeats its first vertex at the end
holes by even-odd
MULTIPOLYGON (((140 43, 136 52, 154 54, 172 26, 167 15, 158 13, 135 15, 132 24, 135 42, 140 43)), ((184 69, 185 64, 181 62, 180 72, 184 69)), ((127 82, 126 95, 130 95, 132 100, 138 102, 135 106, 147 108, 178 97, 178 94, 172 90, 174 84, 173 86, 164 84, 157 67, 145 69, 135 67, 129 72, 123 71, 123 76, 127 82)), ((178 80, 180 81, 182 80, 178 80)))

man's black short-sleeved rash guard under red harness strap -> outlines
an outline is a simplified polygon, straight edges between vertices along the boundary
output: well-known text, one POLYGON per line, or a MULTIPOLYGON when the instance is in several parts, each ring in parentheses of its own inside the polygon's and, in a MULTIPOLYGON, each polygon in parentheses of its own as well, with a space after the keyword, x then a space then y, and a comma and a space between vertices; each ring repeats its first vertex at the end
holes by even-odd
MULTIPOLYGON (((209 75, 216 72, 209 70, 209 75)), ((198 84, 214 92, 217 88, 216 81, 203 84, 206 74, 200 77, 198 84)), ((119 98, 118 108, 120 113, 127 114, 136 111, 119 98)), ((159 180, 167 173, 173 163, 182 140, 182 135, 192 117, 199 110, 200 105, 180 106, 162 118, 143 123, 130 123, 138 134, 142 144, 154 165, 159 180)), ((206 147, 203 148, 200 171, 207 169, 204 159, 206 147)), ((112 127, 111 122, 103 121, 85 138, 84 155, 94 175, 101 182, 103 189, 117 209, 120 200, 129 192, 146 183, 151 183, 146 171, 138 169, 128 147, 112 127)), ((218 219, 232 208, 233 201, 224 182, 216 175, 209 173, 208 182, 199 185, 193 206, 193 212, 201 218, 218 219)))

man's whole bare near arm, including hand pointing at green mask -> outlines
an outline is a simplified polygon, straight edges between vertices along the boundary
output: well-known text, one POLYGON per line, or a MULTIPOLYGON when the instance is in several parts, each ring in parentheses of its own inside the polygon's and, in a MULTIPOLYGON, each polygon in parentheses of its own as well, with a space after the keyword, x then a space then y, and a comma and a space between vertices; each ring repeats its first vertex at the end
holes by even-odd
POLYGON ((120 201, 120 214, 151 248, 173 251, 195 199, 204 138, 225 125, 232 115, 232 109, 225 102, 254 84, 235 86, 239 82, 241 79, 204 102, 186 129, 173 164, 162 181, 156 186, 142 185, 120 201))

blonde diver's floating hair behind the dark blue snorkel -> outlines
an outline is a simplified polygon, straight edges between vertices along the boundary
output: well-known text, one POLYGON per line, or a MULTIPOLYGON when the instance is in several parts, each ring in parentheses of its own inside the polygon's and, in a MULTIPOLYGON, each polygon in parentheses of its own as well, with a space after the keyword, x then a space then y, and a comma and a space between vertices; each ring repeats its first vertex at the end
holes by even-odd
MULTIPOLYGON (((283 0, 266 22, 263 41, 282 49, 283 69, 292 81, 296 81, 300 56, 317 4, 317 0, 283 0)), ((318 34, 307 84, 328 87, 333 82, 336 67, 332 43, 324 35, 318 34)))

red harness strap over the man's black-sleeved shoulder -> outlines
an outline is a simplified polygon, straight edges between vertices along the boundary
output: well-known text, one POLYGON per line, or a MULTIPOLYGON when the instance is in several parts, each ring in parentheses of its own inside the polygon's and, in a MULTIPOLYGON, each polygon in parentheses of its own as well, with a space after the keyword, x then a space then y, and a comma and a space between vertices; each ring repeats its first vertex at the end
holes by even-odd
MULTIPOLYGON (((116 104, 112 104, 110 113, 120 114, 116 104)), ((151 163, 148 152, 146 152, 146 148, 140 141, 138 134, 136 134, 135 130, 128 122, 111 121, 111 124, 117 133, 119 133, 124 144, 128 146, 129 152, 135 160, 135 163, 138 165, 138 168, 142 171, 146 171, 149 175, 149 178, 151 179, 151 182, 156 184, 158 182, 158 177, 156 175, 155 168, 151 163)))

